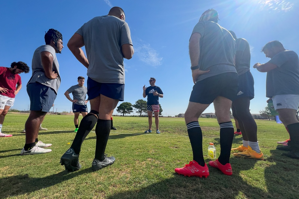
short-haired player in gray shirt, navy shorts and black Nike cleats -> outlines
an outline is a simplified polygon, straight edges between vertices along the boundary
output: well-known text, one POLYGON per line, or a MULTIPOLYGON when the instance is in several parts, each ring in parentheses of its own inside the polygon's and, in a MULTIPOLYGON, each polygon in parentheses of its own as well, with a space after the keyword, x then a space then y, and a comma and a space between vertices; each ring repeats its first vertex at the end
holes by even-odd
POLYGON ((96 125, 96 150, 91 169, 98 170, 114 163, 105 149, 111 129, 113 110, 123 101, 123 58, 131 59, 134 50, 125 13, 120 7, 112 7, 105 16, 98 16, 83 26, 68 41, 68 48, 87 70, 87 94, 91 111, 81 120, 71 145, 61 159, 66 170, 81 168, 79 153, 81 145, 96 125), (86 56, 81 47, 85 46, 86 56))

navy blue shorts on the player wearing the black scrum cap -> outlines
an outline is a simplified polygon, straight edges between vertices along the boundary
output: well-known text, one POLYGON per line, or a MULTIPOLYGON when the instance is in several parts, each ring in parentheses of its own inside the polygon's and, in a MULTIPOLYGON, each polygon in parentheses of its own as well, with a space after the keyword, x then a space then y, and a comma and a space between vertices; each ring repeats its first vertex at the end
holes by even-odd
POLYGON ((30 111, 49 112, 57 96, 54 89, 39 83, 27 84, 27 93, 30 111))

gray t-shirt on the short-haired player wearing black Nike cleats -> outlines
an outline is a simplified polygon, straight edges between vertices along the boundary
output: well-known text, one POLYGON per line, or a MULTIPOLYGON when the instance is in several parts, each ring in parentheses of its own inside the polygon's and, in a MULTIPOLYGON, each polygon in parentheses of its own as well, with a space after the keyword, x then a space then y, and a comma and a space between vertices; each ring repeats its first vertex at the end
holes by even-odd
POLYGON ((77 30, 83 36, 87 76, 100 83, 125 83, 121 46, 132 44, 128 24, 115 16, 99 16, 77 30))

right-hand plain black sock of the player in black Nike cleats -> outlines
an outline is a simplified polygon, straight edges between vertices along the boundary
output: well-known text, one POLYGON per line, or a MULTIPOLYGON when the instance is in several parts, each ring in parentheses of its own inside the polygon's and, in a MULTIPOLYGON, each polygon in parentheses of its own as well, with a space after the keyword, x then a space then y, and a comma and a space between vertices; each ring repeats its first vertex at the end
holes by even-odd
POLYGON ((94 158, 98 159, 99 161, 103 161, 105 158, 104 153, 109 138, 110 129, 111 120, 98 119, 97 126, 95 127, 95 134, 97 135, 97 144, 95 147, 94 158))

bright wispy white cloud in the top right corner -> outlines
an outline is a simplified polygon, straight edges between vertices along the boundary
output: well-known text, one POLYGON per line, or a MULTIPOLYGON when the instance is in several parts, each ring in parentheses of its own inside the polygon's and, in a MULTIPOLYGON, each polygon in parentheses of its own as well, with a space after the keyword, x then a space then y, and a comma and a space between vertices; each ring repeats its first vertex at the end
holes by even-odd
POLYGON ((275 10, 278 12, 287 12, 291 10, 294 6, 292 2, 285 0, 262 0, 259 1, 259 4, 261 4, 262 10, 275 10))

